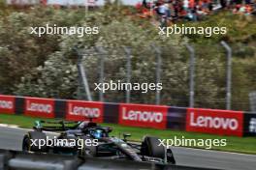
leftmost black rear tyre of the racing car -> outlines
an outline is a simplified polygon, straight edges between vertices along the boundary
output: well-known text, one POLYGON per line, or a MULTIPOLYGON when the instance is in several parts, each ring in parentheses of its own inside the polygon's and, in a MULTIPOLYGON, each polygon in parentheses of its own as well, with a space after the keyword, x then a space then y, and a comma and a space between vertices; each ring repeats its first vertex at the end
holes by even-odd
MULTIPOLYGON (((41 144, 44 144, 44 143, 41 143, 41 144)), ((29 131, 23 137, 22 151, 48 153, 47 135, 41 131, 29 131), (44 141, 45 145, 39 145, 40 141, 42 142, 44 141)))

